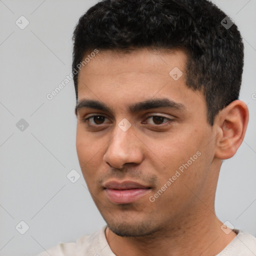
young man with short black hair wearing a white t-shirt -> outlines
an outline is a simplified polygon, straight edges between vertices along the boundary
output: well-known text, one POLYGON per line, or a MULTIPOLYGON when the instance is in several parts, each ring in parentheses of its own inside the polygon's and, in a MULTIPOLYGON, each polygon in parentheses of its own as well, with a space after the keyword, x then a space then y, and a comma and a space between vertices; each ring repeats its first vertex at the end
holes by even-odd
POLYGON ((214 211, 248 123, 237 26, 206 0, 104 0, 73 39, 77 155, 107 225, 39 255, 256 255, 214 211))

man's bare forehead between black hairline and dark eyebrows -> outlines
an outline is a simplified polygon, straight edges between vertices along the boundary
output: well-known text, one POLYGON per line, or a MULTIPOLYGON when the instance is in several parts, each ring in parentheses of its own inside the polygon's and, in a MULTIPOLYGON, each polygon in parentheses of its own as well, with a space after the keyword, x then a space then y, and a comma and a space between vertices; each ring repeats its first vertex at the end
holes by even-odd
POLYGON ((186 59, 180 49, 99 51, 79 71, 78 102, 86 98, 101 101, 109 108, 118 105, 127 109, 131 103, 168 98, 184 108, 198 106, 196 101, 203 97, 195 97, 193 94, 198 92, 186 86, 186 59))

